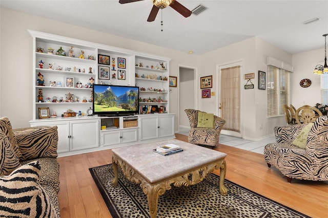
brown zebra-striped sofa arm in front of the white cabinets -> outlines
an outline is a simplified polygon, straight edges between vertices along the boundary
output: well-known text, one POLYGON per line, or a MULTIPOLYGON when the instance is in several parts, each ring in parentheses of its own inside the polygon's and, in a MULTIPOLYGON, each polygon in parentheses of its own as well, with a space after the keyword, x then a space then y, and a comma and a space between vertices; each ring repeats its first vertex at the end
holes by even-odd
POLYGON ((57 126, 30 127, 15 130, 14 136, 22 154, 20 161, 57 157, 57 126))

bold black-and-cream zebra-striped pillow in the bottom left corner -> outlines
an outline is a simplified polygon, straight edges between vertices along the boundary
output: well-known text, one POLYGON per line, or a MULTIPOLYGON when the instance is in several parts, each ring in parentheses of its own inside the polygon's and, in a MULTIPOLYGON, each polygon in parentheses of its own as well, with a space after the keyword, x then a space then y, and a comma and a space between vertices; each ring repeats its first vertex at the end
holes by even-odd
POLYGON ((45 190, 36 182, 37 161, 0 178, 0 213, 6 217, 56 217, 45 190))

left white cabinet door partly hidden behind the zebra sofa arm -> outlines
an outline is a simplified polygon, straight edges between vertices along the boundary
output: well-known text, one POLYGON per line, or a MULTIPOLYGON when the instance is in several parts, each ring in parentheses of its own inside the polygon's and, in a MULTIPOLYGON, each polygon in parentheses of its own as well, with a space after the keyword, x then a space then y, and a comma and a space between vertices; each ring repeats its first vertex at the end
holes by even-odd
POLYGON ((58 132, 58 144, 57 144, 57 153, 66 152, 70 150, 70 125, 69 122, 59 121, 59 122, 35 122, 31 123, 31 127, 37 126, 57 126, 58 132))

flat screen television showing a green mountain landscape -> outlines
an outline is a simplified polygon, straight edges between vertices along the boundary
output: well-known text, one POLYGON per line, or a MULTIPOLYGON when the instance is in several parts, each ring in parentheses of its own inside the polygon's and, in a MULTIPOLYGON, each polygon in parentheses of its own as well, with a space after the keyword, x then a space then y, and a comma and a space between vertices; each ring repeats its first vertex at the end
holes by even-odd
POLYGON ((93 114, 125 116, 139 114, 139 87, 93 84, 93 114))

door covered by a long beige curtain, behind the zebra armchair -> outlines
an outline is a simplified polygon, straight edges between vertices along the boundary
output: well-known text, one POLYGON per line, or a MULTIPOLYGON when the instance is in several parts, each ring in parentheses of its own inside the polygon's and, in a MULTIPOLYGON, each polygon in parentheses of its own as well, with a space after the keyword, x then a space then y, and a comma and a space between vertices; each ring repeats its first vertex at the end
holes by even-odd
POLYGON ((241 66, 242 61, 217 67, 218 116, 226 120, 221 134, 242 138, 241 131, 241 66))

